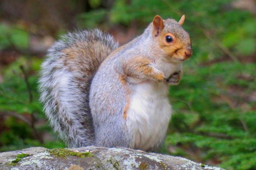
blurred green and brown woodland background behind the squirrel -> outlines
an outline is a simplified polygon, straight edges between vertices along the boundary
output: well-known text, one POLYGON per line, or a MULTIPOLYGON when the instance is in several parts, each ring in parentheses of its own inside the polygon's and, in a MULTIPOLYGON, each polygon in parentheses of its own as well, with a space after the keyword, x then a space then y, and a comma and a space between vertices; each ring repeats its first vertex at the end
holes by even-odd
POLYGON ((186 14, 194 52, 170 87, 174 114, 160 153, 255 170, 256 0, 0 0, 0 151, 65 147, 37 91, 41 62, 59 36, 97 27, 122 45, 156 14, 186 14))

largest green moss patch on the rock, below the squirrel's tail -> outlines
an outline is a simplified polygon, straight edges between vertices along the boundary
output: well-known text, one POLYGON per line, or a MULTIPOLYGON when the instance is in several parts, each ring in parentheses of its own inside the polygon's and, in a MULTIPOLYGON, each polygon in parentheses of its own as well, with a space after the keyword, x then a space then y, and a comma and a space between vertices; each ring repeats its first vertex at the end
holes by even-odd
POLYGON ((63 159, 66 159, 67 156, 77 156, 79 158, 94 156, 90 152, 74 152, 72 150, 62 149, 62 148, 49 150, 49 153, 50 153, 50 155, 54 155, 56 157, 61 157, 63 159))

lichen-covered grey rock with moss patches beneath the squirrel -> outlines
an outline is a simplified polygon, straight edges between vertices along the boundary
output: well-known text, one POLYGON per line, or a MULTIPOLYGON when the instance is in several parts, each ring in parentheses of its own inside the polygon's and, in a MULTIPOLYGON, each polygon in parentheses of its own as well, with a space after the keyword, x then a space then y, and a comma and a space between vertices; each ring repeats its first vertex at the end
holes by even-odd
POLYGON ((123 147, 31 147, 0 153, 0 170, 222 170, 181 157, 123 147))

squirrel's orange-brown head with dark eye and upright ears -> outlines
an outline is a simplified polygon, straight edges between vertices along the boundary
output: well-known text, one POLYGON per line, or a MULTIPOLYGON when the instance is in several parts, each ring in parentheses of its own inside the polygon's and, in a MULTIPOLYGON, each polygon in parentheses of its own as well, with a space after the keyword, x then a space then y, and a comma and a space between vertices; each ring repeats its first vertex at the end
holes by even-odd
POLYGON ((166 57, 174 61, 184 61, 192 55, 189 34, 181 27, 184 20, 185 15, 179 22, 173 19, 162 20, 157 15, 152 22, 154 42, 158 43, 166 57))

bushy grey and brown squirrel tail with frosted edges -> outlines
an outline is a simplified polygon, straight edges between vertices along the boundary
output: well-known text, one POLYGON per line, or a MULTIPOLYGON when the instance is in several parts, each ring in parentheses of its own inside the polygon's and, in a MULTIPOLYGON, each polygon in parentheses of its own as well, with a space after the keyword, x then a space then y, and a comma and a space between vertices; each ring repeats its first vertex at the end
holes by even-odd
POLYGON ((118 43, 99 30, 64 35, 41 65, 39 91, 50 125, 68 147, 94 144, 89 107, 91 80, 118 43))

